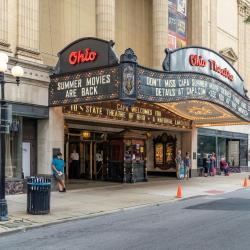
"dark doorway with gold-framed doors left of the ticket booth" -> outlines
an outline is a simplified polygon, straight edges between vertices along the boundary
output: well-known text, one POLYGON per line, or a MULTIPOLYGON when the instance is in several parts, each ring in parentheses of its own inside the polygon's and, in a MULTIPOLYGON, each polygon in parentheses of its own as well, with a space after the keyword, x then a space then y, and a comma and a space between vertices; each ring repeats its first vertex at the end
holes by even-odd
POLYGON ((106 175, 107 146, 105 134, 70 131, 65 134, 67 179, 102 180, 106 175))

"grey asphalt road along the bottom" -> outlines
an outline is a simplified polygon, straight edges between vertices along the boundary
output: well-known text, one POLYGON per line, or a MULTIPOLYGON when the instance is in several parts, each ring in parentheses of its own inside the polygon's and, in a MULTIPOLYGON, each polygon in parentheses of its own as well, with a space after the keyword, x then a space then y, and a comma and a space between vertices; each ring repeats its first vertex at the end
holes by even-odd
POLYGON ((1 236, 0 249, 248 250, 250 189, 1 236))

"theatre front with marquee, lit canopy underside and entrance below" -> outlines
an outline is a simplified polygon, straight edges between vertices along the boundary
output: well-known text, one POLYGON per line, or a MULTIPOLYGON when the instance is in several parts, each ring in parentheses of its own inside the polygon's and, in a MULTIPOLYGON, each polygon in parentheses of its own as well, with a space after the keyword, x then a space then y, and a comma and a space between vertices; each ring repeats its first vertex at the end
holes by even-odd
POLYGON ((200 47, 166 53, 164 71, 138 65, 132 49, 119 60, 113 42, 96 38, 59 53, 49 105, 63 107, 67 178, 146 181, 175 172, 178 149, 195 175, 198 127, 250 121, 244 82, 225 59, 200 47))

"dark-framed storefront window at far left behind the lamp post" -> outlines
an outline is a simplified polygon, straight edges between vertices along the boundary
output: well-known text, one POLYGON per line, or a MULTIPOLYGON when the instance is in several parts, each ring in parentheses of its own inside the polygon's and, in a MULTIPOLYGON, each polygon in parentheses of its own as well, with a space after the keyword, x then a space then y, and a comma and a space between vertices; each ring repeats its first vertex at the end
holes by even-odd
POLYGON ((37 123, 48 119, 49 109, 39 105, 8 103, 6 133, 6 193, 23 192, 24 178, 37 173, 37 123))

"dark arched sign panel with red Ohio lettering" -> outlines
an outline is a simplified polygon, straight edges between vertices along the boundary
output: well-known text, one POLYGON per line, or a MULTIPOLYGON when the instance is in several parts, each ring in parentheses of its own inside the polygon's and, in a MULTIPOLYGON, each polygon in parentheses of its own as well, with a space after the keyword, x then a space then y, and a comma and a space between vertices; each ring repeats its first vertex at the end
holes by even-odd
POLYGON ((58 53, 56 74, 72 73, 118 64, 113 41, 98 38, 78 39, 58 53))

